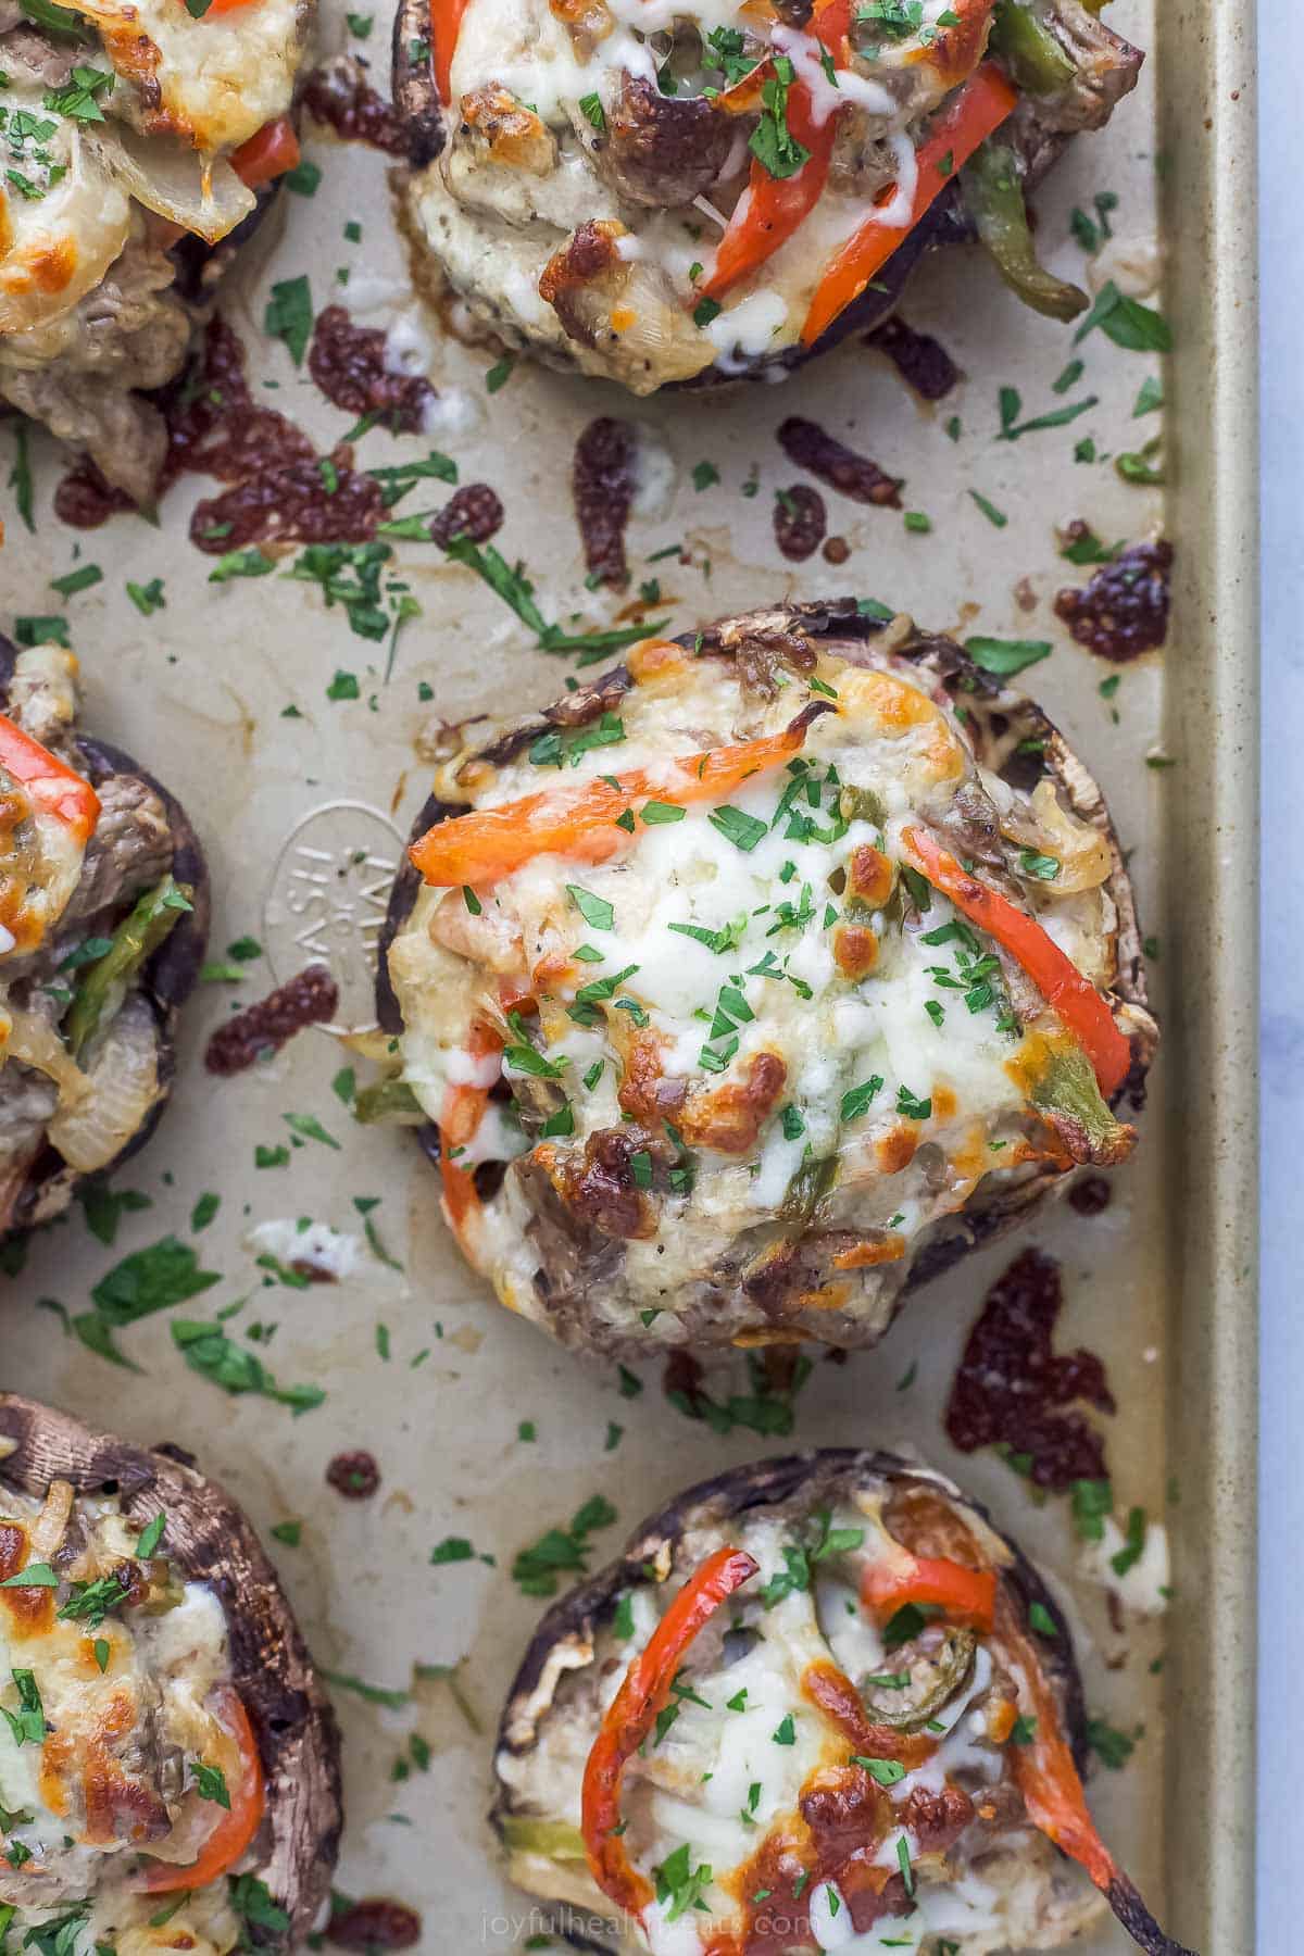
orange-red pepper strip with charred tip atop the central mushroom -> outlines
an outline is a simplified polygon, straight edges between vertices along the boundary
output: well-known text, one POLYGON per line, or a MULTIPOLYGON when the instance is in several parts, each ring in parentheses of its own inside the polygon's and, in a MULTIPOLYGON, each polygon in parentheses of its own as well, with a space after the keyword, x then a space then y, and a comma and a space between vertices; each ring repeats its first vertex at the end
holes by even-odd
POLYGON ((645 802, 673 802, 676 808, 686 808, 690 802, 719 800, 751 775, 790 761, 804 739, 805 726, 794 724, 784 734, 667 761, 667 780, 659 778, 659 769, 637 769, 620 778, 598 777, 581 788, 526 794, 500 808, 475 808, 467 816, 454 816, 426 829, 409 855, 426 882, 448 888, 471 884, 473 890, 500 882, 538 855, 555 853, 579 863, 606 863, 633 839, 628 829, 616 827, 618 816, 628 810, 637 814, 645 802), (673 769, 684 778, 674 780, 673 769))

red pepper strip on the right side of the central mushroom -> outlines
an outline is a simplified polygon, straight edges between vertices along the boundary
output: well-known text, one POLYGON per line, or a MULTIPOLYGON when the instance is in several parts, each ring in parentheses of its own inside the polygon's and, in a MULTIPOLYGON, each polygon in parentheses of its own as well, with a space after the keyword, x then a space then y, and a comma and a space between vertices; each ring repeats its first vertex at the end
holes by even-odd
POLYGON ((1046 1003, 1091 1060, 1105 1099, 1116 1093, 1132 1068, 1132 1048, 1114 1025, 1107 1000, 1101 998, 1091 980, 1083 978, 1036 917, 1026 917, 999 890, 970 876, 927 829, 909 827, 901 841, 919 874, 942 896, 948 896, 970 923, 976 923, 987 937, 995 937, 1001 949, 1022 964, 1046 1003))

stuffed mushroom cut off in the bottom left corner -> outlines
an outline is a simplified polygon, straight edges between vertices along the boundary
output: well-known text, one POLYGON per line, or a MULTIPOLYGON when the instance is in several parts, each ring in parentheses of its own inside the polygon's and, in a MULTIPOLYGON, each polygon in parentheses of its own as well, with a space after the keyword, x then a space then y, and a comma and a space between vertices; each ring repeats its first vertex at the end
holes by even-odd
POLYGON ((0 1929, 59 1956, 313 1929, 338 1735, 276 1573, 188 1453, 0 1395, 0 1929))

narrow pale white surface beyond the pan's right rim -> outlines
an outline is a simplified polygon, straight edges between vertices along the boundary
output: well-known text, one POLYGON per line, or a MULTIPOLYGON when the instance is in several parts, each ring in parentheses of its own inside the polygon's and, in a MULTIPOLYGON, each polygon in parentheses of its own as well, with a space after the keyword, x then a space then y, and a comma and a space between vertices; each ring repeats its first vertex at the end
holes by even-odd
MULTIPOLYGON (((1236 0, 1214 0, 1236 4, 1236 0)), ((1259 0, 1263 170, 1263 1432, 1259 1577, 1261 1956, 1300 1946, 1304 1856, 1294 1788, 1304 1739, 1296 1655, 1304 1543, 1304 221, 1282 158, 1304 100, 1300 0, 1259 0)))

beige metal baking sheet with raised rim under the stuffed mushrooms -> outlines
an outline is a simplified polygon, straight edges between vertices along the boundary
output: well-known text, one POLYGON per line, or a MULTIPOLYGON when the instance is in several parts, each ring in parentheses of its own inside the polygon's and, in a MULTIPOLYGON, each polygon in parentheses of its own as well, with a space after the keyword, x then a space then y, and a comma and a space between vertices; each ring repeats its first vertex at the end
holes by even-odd
MULTIPOLYGON (((1150 293, 1159 278, 1155 194, 1163 196, 1171 254, 1165 307, 1177 325, 1169 434, 1177 426, 1167 522, 1155 491, 1118 479, 1108 462, 1073 462, 1095 438, 1101 456, 1138 448, 1159 417, 1134 419, 1155 364, 1101 333, 1081 348, 1085 374, 1067 399, 1099 395, 1069 428, 999 442, 997 389, 1017 385, 1024 415, 1058 407, 1052 381, 1071 358, 1071 333, 1036 319, 1005 293, 978 254, 933 260, 911 286, 905 315, 933 329, 966 379, 927 407, 882 356, 858 346, 815 364, 782 387, 749 387, 719 401, 700 395, 630 405, 600 383, 581 383, 518 362, 506 385, 485 387, 495 354, 442 336, 413 299, 393 233, 383 158, 328 141, 309 145, 323 166, 315 198, 283 198, 280 237, 266 235, 242 268, 225 311, 250 348, 256 391, 289 413, 326 450, 346 417, 330 409, 285 348, 258 321, 272 280, 307 272, 315 305, 346 303, 364 325, 403 317, 428 342, 442 395, 442 426, 428 440, 373 430, 362 466, 450 452, 459 479, 491 481, 506 505, 497 538, 522 557, 547 616, 612 622, 616 600, 583 583, 569 507, 569 460, 598 413, 633 413, 667 456, 659 501, 635 514, 635 583, 659 577, 673 630, 774 597, 854 591, 880 597, 960 636, 1048 638, 1052 659, 1028 675, 1110 798, 1134 851, 1144 931, 1157 939, 1150 966, 1165 1045, 1136 1160, 1114 1178, 1099 1219, 1058 1209, 1013 1244, 970 1258, 917 1297, 874 1354, 817 1363, 798 1402, 792 1444, 917 1447, 954 1471, 1017 1532, 1065 1596, 1079 1627, 1093 1712, 1128 1733, 1142 1727, 1124 1772, 1099 1772, 1093 1800, 1107 1837, 1142 1889, 1161 1899, 1175 1934, 1218 1956, 1253 1946, 1249 1880, 1249 1739, 1253 1694, 1243 1635, 1253 1539, 1253 577, 1251 438, 1251 72, 1243 20, 1224 6, 1120 0, 1114 25, 1152 49, 1142 88, 1101 137, 1077 143, 1038 192, 1042 248, 1056 270, 1093 288, 1116 278, 1150 293), (1153 84, 1161 76, 1155 108, 1153 84), (1210 80, 1212 76, 1212 80, 1210 80), (1232 90, 1239 100, 1232 102, 1232 90), (1083 268, 1069 239, 1075 205, 1114 192, 1114 239, 1083 268), (346 221, 362 241, 344 239, 346 221), (346 270, 348 282, 336 272, 346 270), (1230 272, 1236 272, 1232 284, 1230 272), (1210 354, 1216 348, 1216 354, 1210 354), (862 509, 833 493, 829 530, 847 538, 841 569, 821 557, 786 565, 770 534, 774 489, 798 479, 772 430, 802 413, 884 467, 907 477, 901 514, 862 509), (962 419, 952 442, 946 421, 962 419), (710 462, 719 483, 694 487, 710 462), (759 471, 755 499, 741 485, 759 471), (995 528, 978 491, 1009 522, 995 528), (1050 602, 1083 581, 1058 557, 1056 524, 1083 518, 1107 538, 1140 538, 1161 522, 1179 544, 1175 616, 1163 657, 1112 671, 1071 644, 1050 602), (655 552, 684 540, 692 567, 655 552), (1021 591, 1021 595, 1017 595, 1021 591), (1022 608, 1032 595, 1030 610, 1022 608), (1173 681, 1165 685, 1165 681, 1173 681), (1112 708, 1118 712, 1114 722, 1112 708), (1148 767, 1169 757, 1175 767, 1148 767), (1234 865, 1236 874, 1228 868, 1234 865), (1214 902, 1216 898, 1216 902, 1214 902), (1210 917, 1222 919, 1210 941, 1210 917), (1118 1395, 1108 1451, 1120 1510, 1142 1504, 1169 1528, 1175 1602, 1165 1623, 1128 1620, 1110 1629, 1105 1596, 1075 1578, 1077 1543, 1067 1504, 1036 1508, 1024 1483, 995 1455, 956 1455, 940 1432, 960 1342, 985 1285, 1021 1240, 1064 1260, 1067 1309, 1062 1346, 1101 1352, 1118 1395), (913 1371, 913 1383, 901 1381, 913 1371), (1163 1670, 1155 1661, 1165 1655, 1163 1670)), ((326 49, 348 31, 334 10, 326 49)), ((387 20, 368 41, 385 88, 387 20)), ((1152 301, 1153 303, 1153 301, 1152 301)), ((0 434, 0 446, 12 436, 0 434)), ((369 956, 399 839, 424 798, 422 739, 432 720, 520 710, 561 689, 567 665, 530 649, 528 634, 473 575, 434 546, 399 544, 399 565, 422 604, 397 645, 385 683, 385 647, 348 632, 317 591, 289 579, 209 585, 211 561, 186 538, 197 495, 182 479, 160 528, 115 518, 78 536, 49 512, 55 452, 33 440, 37 534, 6 509, 0 608, 65 610, 86 669, 86 724, 154 767, 186 800, 207 841, 215 886, 215 953, 252 935, 264 958, 246 966, 244 1001, 313 956, 340 978, 344 1015, 369 1011, 369 956), (96 561, 104 581, 66 604, 47 579, 96 561), (129 579, 162 575, 166 608, 143 620, 129 579), (358 677, 356 700, 330 700, 336 671, 358 677), (428 696, 426 696, 428 694, 428 696), (295 706, 301 718, 285 718, 295 706)), ((434 485, 438 487, 438 485, 434 485)), ((444 491, 446 493, 446 491, 444 491)), ((444 499, 416 491, 403 512, 444 499)), ((74 1215, 31 1244, 6 1287, 2 1383, 106 1420, 135 1440, 174 1438, 225 1479, 266 1530, 301 1520, 297 1547, 270 1541, 303 1627, 323 1665, 391 1692, 413 1690, 413 1667, 465 1659, 459 1686, 479 1729, 448 1684, 418 1682, 403 1706, 340 1690, 346 1731, 348 1829, 338 1888, 393 1895, 416 1907, 426 1950, 516 1948, 540 1931, 528 1899, 500 1880, 483 1811, 499 1700, 538 1604, 510 1582, 512 1555, 563 1524, 592 1492, 620 1524, 596 1539, 612 1553, 624 1532, 667 1494, 731 1461, 782 1447, 751 1434, 716 1438, 663 1399, 653 1369, 624 1399, 616 1373, 553 1350, 530 1326, 491 1305, 452 1252, 438 1217, 436 1179, 403 1133, 354 1127, 332 1080, 346 1064, 330 1033, 309 1033, 256 1076, 213 1082, 201 1070, 205 1035, 233 1009, 233 990, 205 986, 182 1037, 176 1103, 121 1187, 151 1207, 121 1217, 113 1246, 74 1215), (325 1140, 291 1148, 283 1168, 256 1168, 256 1146, 289 1144, 285 1115, 311 1115, 325 1140), (197 1199, 221 1209, 197 1234, 197 1199), (369 1211, 393 1269, 368 1252, 356 1197, 369 1211), (254 1262, 250 1232, 274 1219, 311 1217, 358 1238, 358 1271, 338 1285, 295 1291, 254 1262), (282 1385, 319 1383, 326 1402, 293 1418, 258 1399, 229 1399, 186 1371, 168 1314, 121 1334, 141 1377, 109 1367, 39 1305, 84 1311, 92 1285, 127 1252, 176 1232, 221 1275, 176 1314, 213 1316, 244 1299, 227 1322, 252 1344, 282 1385), (424 1356, 422 1356, 424 1354, 424 1356), (518 1438, 532 1422, 538 1438, 518 1438), (610 1422, 622 1428, 612 1451, 610 1422), (381 1467, 371 1502, 346 1502, 325 1483, 332 1455, 368 1447, 381 1467), (430 1549, 465 1535, 475 1561, 432 1567, 430 1549), (395 1782, 407 1735, 432 1747, 426 1774, 395 1782)), ((366 1068, 358 1064, 358 1074, 366 1068)), ((1108 1927, 1083 1950, 1120 1950, 1108 1927)))

